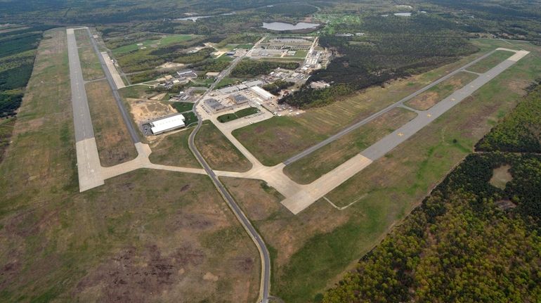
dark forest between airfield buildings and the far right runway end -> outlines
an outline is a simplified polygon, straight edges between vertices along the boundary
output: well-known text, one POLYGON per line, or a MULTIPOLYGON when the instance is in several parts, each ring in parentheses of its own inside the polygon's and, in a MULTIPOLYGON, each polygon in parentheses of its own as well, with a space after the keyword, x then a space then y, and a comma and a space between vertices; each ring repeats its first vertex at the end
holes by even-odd
POLYGON ((334 58, 325 70, 309 79, 333 85, 312 89, 308 84, 281 103, 301 108, 326 105, 351 91, 380 85, 391 79, 430 70, 476 51, 463 38, 459 25, 436 16, 417 14, 411 18, 377 15, 359 24, 344 24, 337 32, 363 32, 363 36, 320 37, 320 44, 334 49, 334 58), (333 86, 346 86, 337 89, 333 86))

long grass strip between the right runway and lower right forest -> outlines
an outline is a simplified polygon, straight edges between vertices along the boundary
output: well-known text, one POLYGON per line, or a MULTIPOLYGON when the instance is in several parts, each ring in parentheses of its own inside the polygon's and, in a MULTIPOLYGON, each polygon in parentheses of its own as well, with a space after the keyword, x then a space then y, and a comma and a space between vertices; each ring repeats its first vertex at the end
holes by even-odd
MULTIPOLYGON (((503 41, 474 43, 485 48, 506 47, 503 41)), ((292 256, 278 264, 278 275, 273 277, 273 292, 278 297, 285 302, 306 302, 330 288, 344 271, 353 269, 352 262, 377 245, 393 224, 403 219, 452 167, 471 153, 474 143, 502 117, 501 112, 514 108, 524 88, 541 73, 541 49, 522 43, 515 47, 532 53, 389 155, 325 195, 338 206, 358 201, 351 207, 338 211, 321 199, 299 214, 304 216, 302 225, 282 219, 279 224, 284 226, 282 229, 262 231, 260 228, 267 240, 271 234, 295 229, 289 225, 307 226, 306 222, 311 221, 321 226, 346 216, 332 231, 301 235, 308 240, 304 240, 300 248, 292 250, 286 246, 292 256), (328 216, 330 219, 313 220, 325 209, 330 209, 327 210, 332 213, 328 216)), ((287 244, 295 243, 296 237, 300 237, 294 235, 296 231, 283 236, 288 239, 287 244)), ((275 245, 279 258, 282 245, 275 245)))

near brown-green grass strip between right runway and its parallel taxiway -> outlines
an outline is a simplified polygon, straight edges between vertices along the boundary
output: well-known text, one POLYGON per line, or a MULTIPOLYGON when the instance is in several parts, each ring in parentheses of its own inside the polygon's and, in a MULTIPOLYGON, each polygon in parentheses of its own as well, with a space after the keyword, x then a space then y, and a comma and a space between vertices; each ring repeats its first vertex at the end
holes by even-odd
POLYGON ((415 116, 417 116, 415 112, 405 108, 393 108, 372 122, 342 136, 337 141, 316 150, 291 165, 287 165, 284 172, 297 183, 311 183, 412 120, 415 116))

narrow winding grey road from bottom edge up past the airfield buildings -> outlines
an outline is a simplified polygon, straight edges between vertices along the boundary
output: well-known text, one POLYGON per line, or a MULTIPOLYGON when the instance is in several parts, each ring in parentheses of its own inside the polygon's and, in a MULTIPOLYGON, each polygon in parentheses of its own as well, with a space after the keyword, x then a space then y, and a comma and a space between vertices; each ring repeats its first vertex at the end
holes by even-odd
MULTIPOLYGON (((264 38, 265 37, 263 37, 263 39, 264 38)), ((259 42, 263 41, 263 39, 259 40, 255 45, 259 44, 259 42)), ((199 99, 197 99, 197 102, 195 102, 193 108, 197 108, 197 103, 200 103, 200 101, 202 101, 202 99, 214 89, 216 84, 219 84, 223 78, 229 75, 231 70, 235 68, 235 66, 237 65, 237 63, 240 62, 240 60, 242 60, 242 57, 235 58, 231 65, 226 70, 223 70, 218 77, 216 77, 216 81, 210 86, 209 89, 207 89, 207 91, 205 91, 205 93, 199 99)), ((252 226, 252 223, 249 221, 248 217, 246 217, 246 214, 242 212, 242 209, 240 209, 240 207, 237 205, 235 199, 233 199, 230 193, 226 190, 226 188, 218 179, 218 176, 214 174, 214 171, 209 167, 207 161, 204 160, 204 157, 201 155, 199 150, 197 150, 197 146, 195 146, 194 143, 195 135, 197 134, 197 131, 199 131, 201 128, 202 118, 197 112, 197 110, 194 110, 194 112, 195 115, 197 115, 197 127, 195 127, 195 129, 190 134, 190 138, 188 139, 188 146, 190 147, 190 150, 192 150, 192 153, 195 155, 195 157, 197 157, 197 160, 200 162, 205 172, 207 172, 207 174, 210 176, 212 183, 214 183, 214 186, 216 186, 218 191, 221 193, 223 199, 226 200, 237 219, 240 221, 240 223, 245 228, 252 240, 254 240, 254 243, 256 244, 257 249, 259 250, 259 254, 261 256, 261 285, 259 288, 259 302, 268 303, 271 283, 271 257, 268 253, 267 246, 265 245, 265 242, 263 242, 263 238, 261 238, 261 236, 259 236, 259 233, 257 233, 256 228, 252 226)))

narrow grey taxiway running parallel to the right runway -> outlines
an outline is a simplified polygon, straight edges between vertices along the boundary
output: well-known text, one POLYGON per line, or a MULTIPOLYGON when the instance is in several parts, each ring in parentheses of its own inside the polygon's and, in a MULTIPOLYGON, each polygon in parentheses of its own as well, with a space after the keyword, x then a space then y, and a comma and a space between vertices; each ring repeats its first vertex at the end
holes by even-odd
POLYGON ((345 129, 342 129, 341 131, 339 131, 337 134, 334 134, 334 135, 330 136, 329 138, 326 138, 325 140, 321 141, 320 143, 315 144, 314 146, 311 146, 309 148, 306 148, 306 150, 301 151, 301 153, 298 153, 297 155, 294 155, 293 157, 290 157, 289 159, 285 160, 283 162, 284 165, 290 165, 293 162, 295 162, 297 160, 300 160, 301 158, 306 157, 307 155, 310 155, 311 153, 315 152, 315 150, 318 150, 318 149, 322 148, 323 146, 326 146, 327 144, 337 140, 341 136, 345 136, 346 134, 349 134, 351 131, 354 131, 355 129, 358 129, 359 127, 362 127, 364 124, 367 124, 368 122, 376 119, 377 117, 383 115, 385 112, 389 112, 389 110, 392 110, 393 108, 397 108, 399 106, 402 106, 403 103, 410 100, 411 98, 423 93, 424 91, 427 91, 427 90, 431 89, 432 87, 440 84, 441 82, 445 81, 446 79, 449 79, 450 77, 456 75, 457 73, 462 72, 463 70, 467 69, 471 65, 474 65, 475 63, 478 63, 478 61, 481 61, 484 58, 492 55, 495 51, 496 50, 490 51, 489 53, 485 53, 485 55, 477 58, 476 60, 471 61, 467 65, 459 67, 457 70, 455 70, 453 72, 450 72, 448 75, 445 75, 445 76, 441 77, 440 79, 432 82, 431 84, 429 84, 427 86, 424 86, 422 89, 419 89, 418 91, 415 91, 415 93, 410 94, 410 96, 407 96, 407 97, 401 99, 400 101, 389 105, 388 107, 384 108, 383 110, 379 110, 379 112, 376 112, 376 113, 370 115, 370 117, 366 117, 365 119, 360 120, 359 122, 356 122, 355 124, 351 124, 350 126, 346 127, 345 129))

